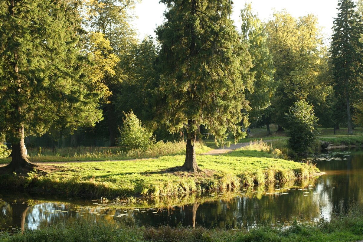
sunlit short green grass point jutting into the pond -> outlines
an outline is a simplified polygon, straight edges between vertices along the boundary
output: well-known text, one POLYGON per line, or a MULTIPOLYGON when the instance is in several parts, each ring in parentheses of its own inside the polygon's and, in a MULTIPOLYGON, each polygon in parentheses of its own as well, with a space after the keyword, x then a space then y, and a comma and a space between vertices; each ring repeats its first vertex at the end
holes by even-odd
POLYGON ((53 193, 91 197, 182 196, 196 192, 219 192, 275 182, 289 182, 314 176, 310 164, 278 159, 278 154, 240 149, 228 154, 198 155, 203 173, 170 170, 183 164, 185 156, 162 156, 134 161, 67 163, 52 166, 47 175, 3 175, 0 186, 41 189, 53 193))

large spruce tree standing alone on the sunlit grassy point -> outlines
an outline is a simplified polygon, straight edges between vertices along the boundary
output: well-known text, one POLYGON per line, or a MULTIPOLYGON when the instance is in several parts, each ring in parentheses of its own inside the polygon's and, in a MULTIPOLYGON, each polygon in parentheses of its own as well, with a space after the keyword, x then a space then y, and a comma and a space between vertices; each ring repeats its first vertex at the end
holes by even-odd
MULTIPOLYGON (((167 4, 166 22, 156 33, 161 48, 158 66, 159 120, 170 131, 186 130, 182 171, 197 172, 197 130, 205 125, 224 143, 227 131, 236 140, 242 132, 240 110, 249 110, 246 89, 252 87, 248 45, 231 20, 231 0, 161 0, 167 4)), ((245 123, 247 122, 246 119, 245 123)))

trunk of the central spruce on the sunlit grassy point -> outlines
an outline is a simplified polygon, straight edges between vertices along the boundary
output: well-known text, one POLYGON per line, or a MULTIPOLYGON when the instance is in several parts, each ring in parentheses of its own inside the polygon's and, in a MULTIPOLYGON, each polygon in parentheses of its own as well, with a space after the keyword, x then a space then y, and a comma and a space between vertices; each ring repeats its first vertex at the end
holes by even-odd
POLYGON ((195 120, 188 120, 187 127, 187 151, 185 153, 185 162, 181 167, 181 171, 188 172, 198 172, 200 168, 197 164, 196 155, 195 155, 195 142, 197 139, 196 131, 189 131, 189 128, 195 125, 195 120))

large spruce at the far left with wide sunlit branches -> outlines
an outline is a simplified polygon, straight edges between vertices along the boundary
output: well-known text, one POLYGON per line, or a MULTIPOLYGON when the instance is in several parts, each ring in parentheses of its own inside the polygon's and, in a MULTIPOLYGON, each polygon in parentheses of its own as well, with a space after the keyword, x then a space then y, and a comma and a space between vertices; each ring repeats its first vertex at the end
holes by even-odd
POLYGON ((105 90, 89 81, 77 2, 0 2, 0 132, 12 143, 7 171, 26 172, 24 131, 93 126, 105 90))

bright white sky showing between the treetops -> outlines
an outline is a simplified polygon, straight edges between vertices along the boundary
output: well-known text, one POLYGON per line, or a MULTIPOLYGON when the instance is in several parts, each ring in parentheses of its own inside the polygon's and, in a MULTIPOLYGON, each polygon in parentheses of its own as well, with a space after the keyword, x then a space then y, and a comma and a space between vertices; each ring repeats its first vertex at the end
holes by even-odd
MULTIPOLYGON (((239 26, 240 9, 242 9, 248 0, 234 0, 233 20, 235 25, 239 26)), ((252 7, 262 21, 268 20, 274 9, 280 11, 286 9, 294 17, 314 14, 319 19, 319 25, 323 27, 323 33, 326 38, 331 35, 333 18, 337 16, 338 0, 250 0, 252 7)), ((135 20, 134 26, 138 30, 139 39, 146 35, 155 37, 154 30, 156 26, 162 24, 164 20, 163 13, 166 7, 159 4, 159 0, 141 0, 135 8, 135 14, 138 19, 135 20)))

